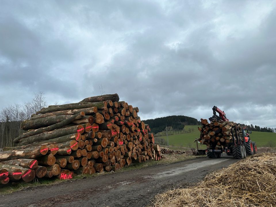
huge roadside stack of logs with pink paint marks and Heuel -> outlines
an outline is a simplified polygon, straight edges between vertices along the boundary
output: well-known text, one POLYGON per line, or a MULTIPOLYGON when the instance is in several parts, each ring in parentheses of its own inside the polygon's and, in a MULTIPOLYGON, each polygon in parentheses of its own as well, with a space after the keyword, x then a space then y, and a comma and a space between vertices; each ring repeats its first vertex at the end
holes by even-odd
POLYGON ((159 160, 160 147, 137 112, 117 94, 42 108, 22 122, 18 146, 0 152, 0 182, 71 179, 159 160))

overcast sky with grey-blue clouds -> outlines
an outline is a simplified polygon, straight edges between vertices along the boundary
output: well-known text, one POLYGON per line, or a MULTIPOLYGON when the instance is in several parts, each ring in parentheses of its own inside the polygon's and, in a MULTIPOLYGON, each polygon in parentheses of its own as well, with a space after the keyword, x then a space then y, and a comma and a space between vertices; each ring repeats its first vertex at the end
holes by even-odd
POLYGON ((0 1, 0 110, 118 93, 141 119, 276 127, 276 1, 0 1))

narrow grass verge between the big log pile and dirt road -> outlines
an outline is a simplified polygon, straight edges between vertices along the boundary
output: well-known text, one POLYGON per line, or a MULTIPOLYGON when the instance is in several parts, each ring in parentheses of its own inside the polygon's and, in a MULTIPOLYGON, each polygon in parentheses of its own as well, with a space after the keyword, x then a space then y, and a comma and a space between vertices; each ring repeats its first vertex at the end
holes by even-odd
MULTIPOLYGON (((28 188, 38 187, 38 186, 49 186, 49 185, 56 185, 58 183, 62 182, 70 182, 73 180, 78 179, 85 179, 85 178, 93 178, 98 177, 102 175, 109 175, 111 173, 118 173, 118 172, 124 172, 124 171, 130 171, 130 170, 137 170, 142 169, 150 166, 157 166, 162 164, 170 164, 175 162, 180 162, 184 160, 192 160, 196 158, 200 158, 202 156, 187 156, 186 154, 164 154, 163 158, 159 161, 154 160, 147 160, 146 162, 141 163, 135 163, 135 165, 131 165, 128 167, 124 167, 116 172, 103 172, 103 173, 95 173, 93 175, 76 175, 71 180, 60 180, 57 178, 42 178, 42 179, 35 179, 32 182, 26 183, 26 182, 14 182, 14 183, 8 183, 7 185, 0 185, 0 195, 5 195, 21 190, 25 190, 28 188)), ((205 157, 205 156, 204 156, 205 157)))

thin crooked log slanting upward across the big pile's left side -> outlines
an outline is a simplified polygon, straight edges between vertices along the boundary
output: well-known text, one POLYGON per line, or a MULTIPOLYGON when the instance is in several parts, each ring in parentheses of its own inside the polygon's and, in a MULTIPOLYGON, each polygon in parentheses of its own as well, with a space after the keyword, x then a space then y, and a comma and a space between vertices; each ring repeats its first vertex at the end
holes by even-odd
POLYGON ((40 133, 43 133, 43 132, 53 131, 54 129, 61 128, 63 126, 66 126, 67 124, 70 124, 73 120, 80 119, 83 116, 85 116, 85 113, 84 112, 80 112, 80 113, 75 114, 74 116, 71 116, 70 118, 68 118, 68 119, 66 119, 66 120, 64 120, 62 122, 59 122, 57 124, 53 124, 53 125, 51 125, 49 127, 39 128, 39 129, 32 130, 30 132, 24 133, 24 134, 16 137, 14 139, 14 143, 18 143, 18 141, 20 139, 23 139, 23 138, 26 138, 26 137, 30 137, 32 135, 37 135, 37 134, 40 134, 40 133))

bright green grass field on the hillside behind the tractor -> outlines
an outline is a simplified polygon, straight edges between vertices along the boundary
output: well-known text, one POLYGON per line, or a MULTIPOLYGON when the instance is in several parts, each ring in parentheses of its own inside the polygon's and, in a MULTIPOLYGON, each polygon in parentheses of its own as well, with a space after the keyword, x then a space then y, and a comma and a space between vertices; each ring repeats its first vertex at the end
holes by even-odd
MULTIPOLYGON (((196 139, 196 137, 199 138, 200 136, 198 126, 185 126, 185 128, 186 127, 195 130, 191 133, 168 135, 169 145, 177 147, 196 148, 196 143, 193 143, 193 141, 196 139)), ((257 147, 276 147, 276 133, 252 131, 250 137, 252 141, 255 141, 257 143, 257 147)), ((167 140, 166 136, 160 136, 158 138, 163 138, 167 140)), ((200 147, 199 145, 199 148, 205 149, 206 146, 202 145, 200 147)))

